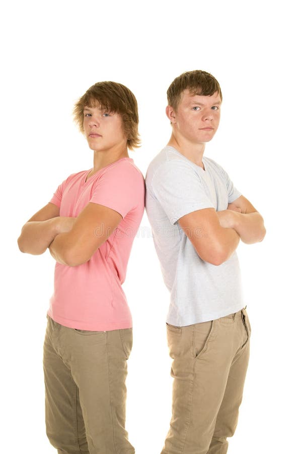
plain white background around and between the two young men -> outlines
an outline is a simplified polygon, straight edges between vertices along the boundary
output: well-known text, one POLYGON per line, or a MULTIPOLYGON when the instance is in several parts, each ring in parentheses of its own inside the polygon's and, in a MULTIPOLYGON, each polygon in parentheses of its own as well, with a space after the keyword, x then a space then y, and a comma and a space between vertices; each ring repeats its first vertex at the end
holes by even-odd
MULTIPOLYGON (((167 143, 166 90, 184 71, 220 82, 221 122, 205 155, 265 218, 264 242, 240 245, 251 360, 232 454, 299 451, 300 122, 298 2, 7 3, 1 13, 2 452, 51 454, 44 430, 42 344, 53 259, 21 254, 23 223, 67 175, 92 166, 74 101, 113 80, 136 95, 145 173, 167 143)), ((124 290, 134 322, 127 429, 138 454, 159 453, 170 421, 169 295, 148 221, 124 290)))

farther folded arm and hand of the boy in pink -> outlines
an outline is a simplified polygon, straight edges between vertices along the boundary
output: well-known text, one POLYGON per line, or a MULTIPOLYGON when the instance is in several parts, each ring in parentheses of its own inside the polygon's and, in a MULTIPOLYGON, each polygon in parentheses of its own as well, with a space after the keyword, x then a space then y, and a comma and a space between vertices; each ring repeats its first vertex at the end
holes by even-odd
POLYGON ((59 207, 48 203, 24 224, 18 238, 21 252, 40 255, 61 232, 71 229, 74 218, 59 216, 59 207))

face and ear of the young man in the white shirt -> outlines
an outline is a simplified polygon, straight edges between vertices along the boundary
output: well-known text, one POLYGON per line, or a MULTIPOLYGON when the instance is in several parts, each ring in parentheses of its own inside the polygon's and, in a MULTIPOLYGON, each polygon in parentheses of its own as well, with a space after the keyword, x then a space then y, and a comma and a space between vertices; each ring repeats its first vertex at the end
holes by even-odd
POLYGON ((192 144, 202 144, 209 142, 217 131, 220 106, 221 99, 218 93, 200 96, 184 90, 177 111, 168 106, 167 115, 176 136, 192 144))

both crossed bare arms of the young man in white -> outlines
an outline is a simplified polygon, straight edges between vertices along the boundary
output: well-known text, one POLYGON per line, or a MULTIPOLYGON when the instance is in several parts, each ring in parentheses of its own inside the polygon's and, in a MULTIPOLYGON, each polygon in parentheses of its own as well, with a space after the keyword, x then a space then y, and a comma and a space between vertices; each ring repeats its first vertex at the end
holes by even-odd
POLYGON ((243 196, 227 210, 204 208, 186 214, 178 222, 199 257, 213 265, 228 260, 240 239, 247 244, 257 243, 266 233, 262 216, 243 196))

